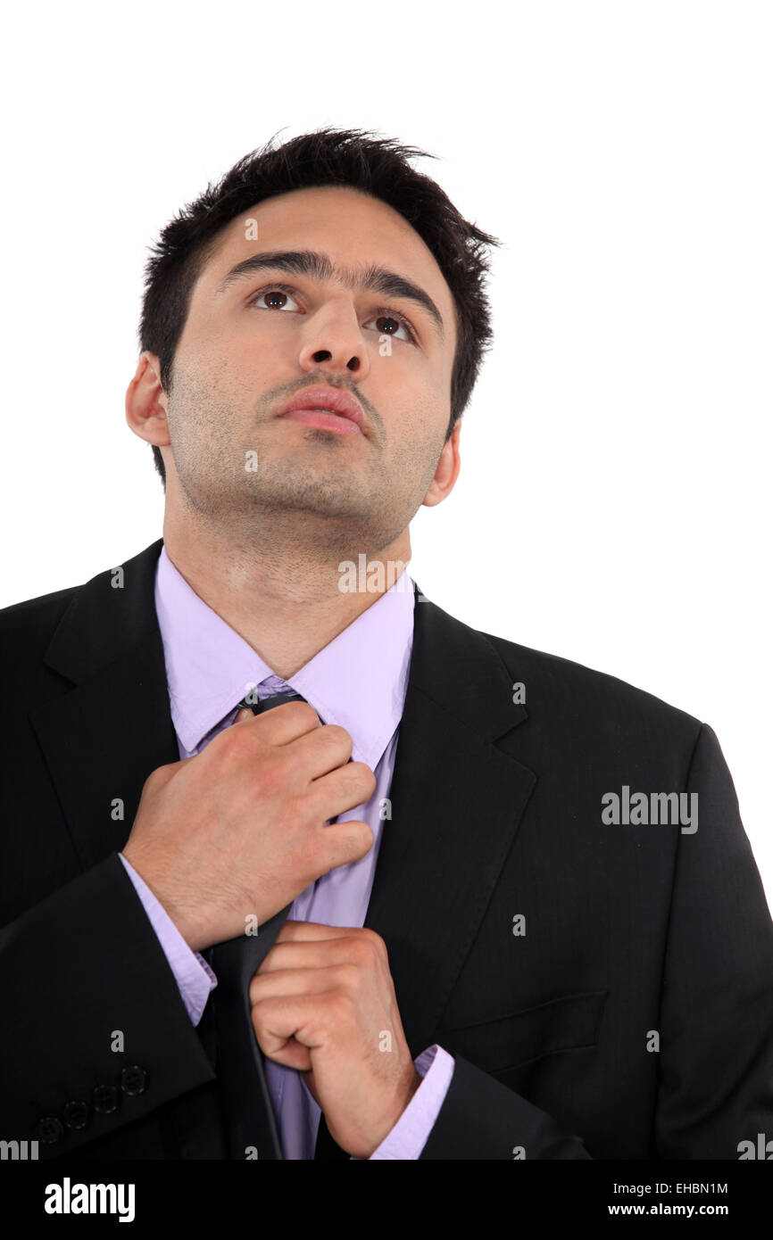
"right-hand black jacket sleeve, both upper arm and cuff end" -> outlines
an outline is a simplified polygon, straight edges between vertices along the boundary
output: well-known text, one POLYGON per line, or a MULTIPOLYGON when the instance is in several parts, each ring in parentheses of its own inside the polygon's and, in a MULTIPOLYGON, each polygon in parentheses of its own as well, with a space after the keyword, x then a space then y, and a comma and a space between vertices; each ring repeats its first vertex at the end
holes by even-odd
MULTIPOLYGON (((731 774, 704 724, 686 776, 664 961, 650 1157, 737 1159, 773 1133, 773 923, 731 774), (691 805, 695 802, 690 802, 691 805), (684 820, 682 820, 684 821, 684 820)), ((581 1136, 455 1056, 421 1158, 591 1158, 581 1136)))

